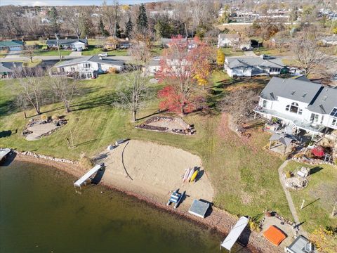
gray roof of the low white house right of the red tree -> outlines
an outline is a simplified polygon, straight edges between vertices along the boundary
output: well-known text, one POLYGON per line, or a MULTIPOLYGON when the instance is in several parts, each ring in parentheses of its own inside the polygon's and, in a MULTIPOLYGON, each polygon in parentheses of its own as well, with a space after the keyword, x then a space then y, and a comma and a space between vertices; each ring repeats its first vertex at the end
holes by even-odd
POLYGON ((280 67, 285 65, 280 59, 263 59, 260 57, 246 57, 246 58, 227 58, 228 66, 232 68, 253 68, 253 67, 280 67))

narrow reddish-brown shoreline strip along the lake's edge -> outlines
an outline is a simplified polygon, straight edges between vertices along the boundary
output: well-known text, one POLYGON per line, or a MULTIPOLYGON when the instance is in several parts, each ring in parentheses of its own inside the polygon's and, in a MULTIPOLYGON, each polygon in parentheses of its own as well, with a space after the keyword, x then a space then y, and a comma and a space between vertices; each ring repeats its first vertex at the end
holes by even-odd
MULTIPOLYGON (((14 150, 15 152, 15 150, 14 150)), ((13 156, 13 155, 12 155, 13 156)), ((84 167, 81 167, 79 163, 67 163, 60 162, 55 160, 48 160, 42 157, 34 157, 32 155, 25 155, 24 153, 16 153, 13 160, 19 162, 32 162, 35 164, 42 164, 48 167, 53 167, 64 171, 67 174, 72 176, 81 176, 87 170, 84 167)), ((187 219, 193 223, 197 223, 199 226, 206 226, 212 230, 221 233, 222 235, 227 235, 230 232, 231 226, 234 226, 234 223, 237 221, 237 217, 232 214, 229 214, 217 207, 211 207, 211 214, 206 216, 205 219, 201 219, 197 216, 193 216, 188 212, 183 212, 180 209, 172 209, 172 207, 167 207, 165 203, 159 202, 151 197, 146 197, 144 194, 137 193, 136 190, 128 190, 120 186, 112 185, 110 183, 101 182, 102 186, 109 188, 111 190, 117 190, 121 193, 129 195, 131 197, 136 197, 140 201, 147 202, 148 205, 151 205, 154 208, 160 209, 164 212, 169 212, 170 214, 179 216, 180 218, 187 219)), ((249 229, 245 229, 244 233, 238 240, 239 245, 246 245, 244 248, 249 249, 253 253, 277 253, 283 252, 279 247, 273 246, 270 242, 263 238, 262 234, 256 233, 255 231, 250 232, 249 229)))

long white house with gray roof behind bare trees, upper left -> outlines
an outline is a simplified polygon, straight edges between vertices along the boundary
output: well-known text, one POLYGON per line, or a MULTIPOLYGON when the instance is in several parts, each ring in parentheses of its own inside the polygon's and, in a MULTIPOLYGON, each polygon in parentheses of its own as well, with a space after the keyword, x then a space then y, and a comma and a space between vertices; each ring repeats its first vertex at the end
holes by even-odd
POLYGON ((124 61, 102 58, 100 56, 86 56, 62 61, 55 64, 55 67, 59 74, 79 72, 81 78, 90 79, 98 77, 98 74, 108 72, 110 67, 120 72, 124 69, 124 61))

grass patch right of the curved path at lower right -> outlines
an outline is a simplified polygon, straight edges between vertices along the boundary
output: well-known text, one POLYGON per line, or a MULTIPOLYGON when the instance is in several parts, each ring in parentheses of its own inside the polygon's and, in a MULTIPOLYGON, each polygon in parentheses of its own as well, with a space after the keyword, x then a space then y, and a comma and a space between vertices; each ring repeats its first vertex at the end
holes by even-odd
POLYGON ((300 218, 305 221, 303 227, 312 232, 317 226, 337 227, 337 218, 331 218, 330 214, 334 202, 337 201, 337 168, 331 165, 310 166, 298 162, 290 162, 284 171, 293 171, 297 167, 310 167, 315 173, 309 177, 308 187, 303 190, 291 190, 293 204, 300 218), (304 208, 300 205, 305 200, 304 208))

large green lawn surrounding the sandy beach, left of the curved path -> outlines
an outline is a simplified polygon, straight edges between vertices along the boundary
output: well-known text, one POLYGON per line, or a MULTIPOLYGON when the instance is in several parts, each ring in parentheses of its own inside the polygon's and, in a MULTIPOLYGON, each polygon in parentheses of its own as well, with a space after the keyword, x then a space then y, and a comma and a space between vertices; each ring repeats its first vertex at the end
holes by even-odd
MULTIPOLYGON (((232 89, 232 79, 224 72, 213 75, 214 86, 209 95, 209 105, 213 108, 209 115, 199 113, 185 117, 194 124, 197 134, 178 136, 135 129, 130 122, 131 114, 115 108, 112 103, 121 87, 121 74, 104 74, 98 79, 81 82, 82 94, 73 103, 73 111, 66 115, 68 124, 51 136, 37 141, 25 141, 22 129, 28 119, 15 108, 15 85, 18 80, 0 81, 0 147, 30 150, 36 153, 79 159, 81 153, 94 155, 119 138, 135 138, 154 141, 183 148, 199 155, 205 171, 216 191, 214 203, 232 214, 258 216, 265 209, 273 209, 286 219, 291 219, 286 198, 279 184, 277 168, 282 160, 262 149, 268 134, 252 131, 252 137, 243 139, 227 128, 227 118, 215 107, 218 100, 232 89), (15 130, 18 133, 15 134, 15 130), (2 136, 1 136, 1 131, 2 136), (5 132, 6 131, 6 132, 5 132), (6 134, 11 131, 12 134, 6 134), (66 138, 74 138, 74 148, 67 147, 66 138)), ((263 86, 267 79, 235 80, 234 86, 263 86)), ((152 84, 153 89, 161 88, 152 84)), ((148 115, 157 111, 158 100, 152 98, 147 108, 138 118, 143 122, 148 115)), ((45 105, 46 115, 65 115, 61 103, 45 105)), ((27 111, 34 116, 34 111, 27 111)), ((138 122, 137 124, 139 124, 138 122)))

